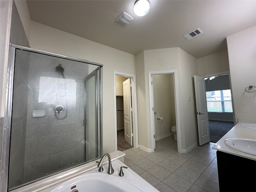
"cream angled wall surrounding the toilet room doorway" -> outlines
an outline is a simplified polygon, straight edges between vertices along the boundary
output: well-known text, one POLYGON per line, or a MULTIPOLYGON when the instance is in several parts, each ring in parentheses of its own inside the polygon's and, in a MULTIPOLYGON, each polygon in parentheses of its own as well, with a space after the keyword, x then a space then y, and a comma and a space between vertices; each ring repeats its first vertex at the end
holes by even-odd
POLYGON ((180 108, 179 128, 182 138, 181 148, 182 150, 186 150, 191 145, 197 143, 192 79, 194 74, 197 74, 197 67, 196 58, 180 48, 144 50, 139 55, 136 55, 139 145, 151 148, 148 72, 170 70, 177 70, 178 105, 180 108), (190 102, 188 102, 189 96, 191 97, 190 102), (142 126, 143 129, 140 129, 142 126), (185 134, 185 132, 188 132, 188 134, 185 134), (191 134, 192 132, 193 134, 191 134))

